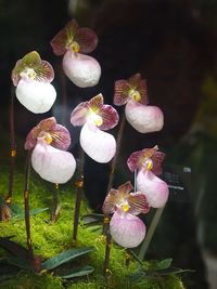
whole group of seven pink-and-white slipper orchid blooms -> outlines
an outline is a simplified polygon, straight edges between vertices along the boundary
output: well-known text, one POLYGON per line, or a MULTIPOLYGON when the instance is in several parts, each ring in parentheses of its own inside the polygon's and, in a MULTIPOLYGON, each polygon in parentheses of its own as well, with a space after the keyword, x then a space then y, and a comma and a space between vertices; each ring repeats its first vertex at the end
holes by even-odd
MULTIPOLYGON (((79 27, 75 19, 51 41, 54 54, 64 55, 65 75, 77 87, 87 88, 99 82, 101 67, 97 60, 86 55, 97 44, 95 32, 79 27)), ((35 114, 46 113, 52 107, 56 97, 51 84, 53 78, 52 66, 42 61, 36 51, 17 61, 12 70, 16 97, 35 114)), ((126 105, 125 117, 140 133, 155 132, 163 128, 163 113, 157 106, 149 105, 146 81, 140 74, 115 82, 114 104, 126 105)), ((115 137, 106 132, 118 121, 116 109, 104 104, 101 93, 78 104, 71 115, 71 123, 81 127, 81 148, 100 163, 110 162, 118 154, 115 137)), ((67 152, 69 146, 68 130, 56 123, 54 117, 41 120, 30 130, 25 141, 25 149, 31 153, 34 170, 43 180, 54 184, 68 182, 75 173, 76 161, 73 154, 67 152)), ((133 248, 144 239, 146 228, 139 218, 140 213, 148 213, 150 207, 162 208, 166 205, 168 186, 157 176, 162 173, 164 158, 165 154, 158 152, 157 146, 132 153, 127 165, 131 172, 137 172, 137 189, 130 182, 126 182, 117 189, 107 192, 102 210, 105 215, 112 215, 110 233, 122 247, 133 248)))

